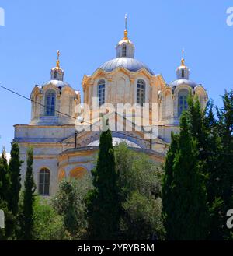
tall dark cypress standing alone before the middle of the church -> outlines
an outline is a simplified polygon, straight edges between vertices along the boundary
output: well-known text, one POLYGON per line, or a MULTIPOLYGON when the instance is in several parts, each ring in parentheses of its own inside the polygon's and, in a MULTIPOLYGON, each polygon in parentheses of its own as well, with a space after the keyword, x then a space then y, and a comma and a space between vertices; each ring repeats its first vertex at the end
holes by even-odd
POLYGON ((120 230, 120 198, 110 130, 100 135, 99 156, 92 175, 95 188, 85 200, 89 239, 115 240, 120 230))

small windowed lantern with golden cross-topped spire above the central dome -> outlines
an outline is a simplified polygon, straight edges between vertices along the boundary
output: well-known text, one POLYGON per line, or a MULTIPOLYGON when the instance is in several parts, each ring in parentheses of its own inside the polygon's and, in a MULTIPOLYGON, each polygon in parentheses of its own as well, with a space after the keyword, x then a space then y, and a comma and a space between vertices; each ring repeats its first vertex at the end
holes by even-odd
POLYGON ((123 32, 123 39, 117 44, 117 58, 134 58, 134 44, 128 38, 127 30, 127 14, 124 17, 125 28, 123 32))

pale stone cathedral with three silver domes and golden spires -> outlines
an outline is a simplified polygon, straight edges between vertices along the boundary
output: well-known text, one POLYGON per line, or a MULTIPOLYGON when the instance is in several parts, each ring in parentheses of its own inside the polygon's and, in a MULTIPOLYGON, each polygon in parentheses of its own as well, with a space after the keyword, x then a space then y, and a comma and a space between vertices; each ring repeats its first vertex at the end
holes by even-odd
POLYGON ((116 46, 116 58, 100 65, 92 75, 84 75, 83 100, 78 90, 64 82, 57 51, 50 80, 35 86, 30 95, 30 124, 15 125, 14 141, 19 143, 23 160, 22 180, 26 174, 26 150, 32 146, 38 194, 54 195, 64 177, 78 178, 92 170, 103 115, 112 125, 113 145, 126 142, 130 149, 162 163, 171 132, 179 132, 179 117, 187 109, 189 93, 198 96, 201 106, 205 106, 207 92, 190 79, 184 57, 176 69, 176 79, 167 83, 162 75, 155 75, 134 58, 134 50, 126 25, 123 39, 116 46), (126 106, 134 109, 131 114, 127 114, 126 106), (147 106, 147 113, 136 114, 135 109, 142 106, 147 106), (144 124, 142 128, 140 124, 144 124))

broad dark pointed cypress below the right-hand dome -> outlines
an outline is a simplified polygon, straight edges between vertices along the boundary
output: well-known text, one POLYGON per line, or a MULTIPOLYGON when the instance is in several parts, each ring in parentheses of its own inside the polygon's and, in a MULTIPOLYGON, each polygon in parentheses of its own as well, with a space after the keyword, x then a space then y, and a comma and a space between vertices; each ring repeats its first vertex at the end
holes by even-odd
POLYGON ((169 240, 207 238, 207 198, 200 170, 196 139, 190 134, 186 114, 183 114, 180 134, 172 138, 162 184, 164 223, 169 240))

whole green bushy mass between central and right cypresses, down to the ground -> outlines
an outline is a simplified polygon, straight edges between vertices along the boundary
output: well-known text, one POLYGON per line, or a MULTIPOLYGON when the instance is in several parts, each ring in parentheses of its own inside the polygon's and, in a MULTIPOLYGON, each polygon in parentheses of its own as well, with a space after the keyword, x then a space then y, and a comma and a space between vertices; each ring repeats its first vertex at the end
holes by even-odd
POLYGON ((124 240, 164 238, 160 166, 143 153, 120 143, 115 149, 119 173, 121 233, 124 240))

